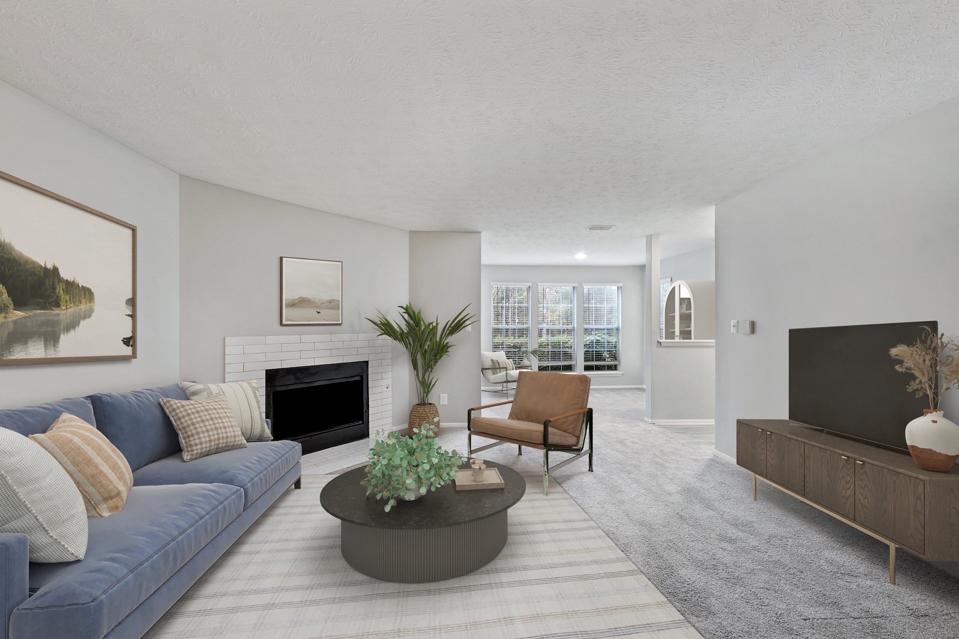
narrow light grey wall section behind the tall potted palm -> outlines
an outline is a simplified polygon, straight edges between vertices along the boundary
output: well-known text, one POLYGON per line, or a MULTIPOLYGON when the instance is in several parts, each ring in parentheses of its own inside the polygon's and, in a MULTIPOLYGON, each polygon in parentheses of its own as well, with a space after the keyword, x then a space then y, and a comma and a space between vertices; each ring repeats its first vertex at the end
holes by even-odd
MULTIPOLYGON (((467 304, 479 315, 479 233, 409 233, 409 301, 427 319, 442 325, 467 304)), ((479 323, 454 337, 455 346, 440 361, 439 379, 430 399, 439 407, 440 421, 465 423, 466 410, 479 406, 479 323), (439 405, 446 394, 449 403, 439 405)), ((412 377, 410 375, 410 377, 412 377)), ((400 388, 397 386, 397 388, 400 388)), ((416 388, 409 380, 409 404, 416 402, 416 388)))

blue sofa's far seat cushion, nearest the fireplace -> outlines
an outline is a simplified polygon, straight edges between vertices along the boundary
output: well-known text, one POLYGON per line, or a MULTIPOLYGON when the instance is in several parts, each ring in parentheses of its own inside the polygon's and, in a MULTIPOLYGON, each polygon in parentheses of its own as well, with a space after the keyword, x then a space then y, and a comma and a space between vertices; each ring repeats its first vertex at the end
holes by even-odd
POLYGON ((244 491, 244 509, 296 466, 301 446, 289 440, 250 442, 246 448, 218 452, 192 462, 174 454, 133 472, 134 486, 229 484, 244 491))

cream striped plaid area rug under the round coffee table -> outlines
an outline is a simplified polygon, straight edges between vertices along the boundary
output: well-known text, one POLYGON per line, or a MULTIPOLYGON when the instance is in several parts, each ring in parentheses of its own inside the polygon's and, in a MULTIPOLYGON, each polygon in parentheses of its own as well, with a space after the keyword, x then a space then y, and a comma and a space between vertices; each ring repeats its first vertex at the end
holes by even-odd
MULTIPOLYGON (((150 639, 699 637, 556 484, 520 469, 500 557, 446 582, 389 583, 350 568, 304 475, 151 629, 150 639)), ((429 495, 425 497, 429 499, 429 495)))

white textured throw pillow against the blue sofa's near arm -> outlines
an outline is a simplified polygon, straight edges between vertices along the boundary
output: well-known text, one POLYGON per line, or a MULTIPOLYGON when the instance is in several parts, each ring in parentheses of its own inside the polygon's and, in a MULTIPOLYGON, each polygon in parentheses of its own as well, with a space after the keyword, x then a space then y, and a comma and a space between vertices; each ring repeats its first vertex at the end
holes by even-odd
POLYGON ((0 533, 30 538, 30 560, 76 561, 86 554, 86 508, 70 475, 43 446, 0 428, 0 533))

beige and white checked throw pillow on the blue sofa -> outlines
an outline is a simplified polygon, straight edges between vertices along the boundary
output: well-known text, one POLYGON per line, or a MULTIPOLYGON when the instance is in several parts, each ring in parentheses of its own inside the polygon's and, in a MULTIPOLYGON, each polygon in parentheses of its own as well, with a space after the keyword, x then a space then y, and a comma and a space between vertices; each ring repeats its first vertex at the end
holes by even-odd
POLYGON ((222 394, 207 399, 162 398, 160 405, 174 422, 184 462, 215 452, 246 448, 240 424, 222 394))

